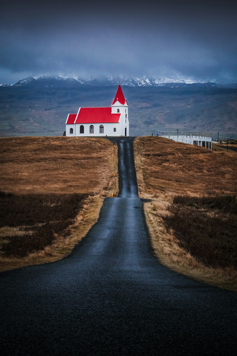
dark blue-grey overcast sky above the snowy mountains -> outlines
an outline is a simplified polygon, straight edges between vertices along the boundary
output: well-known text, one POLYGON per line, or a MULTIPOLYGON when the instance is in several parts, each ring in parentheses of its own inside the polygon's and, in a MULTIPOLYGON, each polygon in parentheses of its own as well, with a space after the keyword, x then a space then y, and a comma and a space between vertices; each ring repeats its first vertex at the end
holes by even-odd
POLYGON ((30 75, 237 79, 232 1, 6 1, 0 84, 30 75))

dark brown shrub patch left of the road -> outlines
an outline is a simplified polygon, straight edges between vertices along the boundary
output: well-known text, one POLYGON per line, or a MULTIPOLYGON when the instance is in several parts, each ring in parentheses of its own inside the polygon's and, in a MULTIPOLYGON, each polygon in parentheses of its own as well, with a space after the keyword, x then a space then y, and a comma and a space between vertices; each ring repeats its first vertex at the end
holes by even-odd
POLYGON ((0 227, 21 226, 25 234, 14 234, 0 243, 2 256, 26 256, 51 245, 55 234, 64 234, 88 194, 0 193, 0 227), (29 233, 27 231, 33 231, 29 233))

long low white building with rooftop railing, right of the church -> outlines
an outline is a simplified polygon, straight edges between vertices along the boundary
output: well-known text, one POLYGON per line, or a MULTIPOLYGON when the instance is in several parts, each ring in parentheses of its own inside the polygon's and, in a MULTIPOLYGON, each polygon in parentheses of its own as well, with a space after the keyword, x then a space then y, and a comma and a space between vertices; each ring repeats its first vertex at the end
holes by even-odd
POLYGON ((211 150, 211 133, 201 131, 160 131, 159 137, 170 138, 173 141, 184 142, 190 145, 202 146, 211 150))

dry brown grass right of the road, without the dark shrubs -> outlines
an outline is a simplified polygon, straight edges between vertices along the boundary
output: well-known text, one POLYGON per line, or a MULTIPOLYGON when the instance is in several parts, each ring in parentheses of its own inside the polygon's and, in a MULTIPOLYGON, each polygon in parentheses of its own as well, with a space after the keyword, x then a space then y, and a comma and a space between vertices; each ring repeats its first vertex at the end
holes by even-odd
POLYGON ((198 280, 237 291, 233 267, 208 268, 179 247, 163 217, 176 194, 203 195, 237 191, 237 153, 210 151, 161 137, 134 140, 139 196, 151 198, 144 204, 152 246, 164 265, 198 280))

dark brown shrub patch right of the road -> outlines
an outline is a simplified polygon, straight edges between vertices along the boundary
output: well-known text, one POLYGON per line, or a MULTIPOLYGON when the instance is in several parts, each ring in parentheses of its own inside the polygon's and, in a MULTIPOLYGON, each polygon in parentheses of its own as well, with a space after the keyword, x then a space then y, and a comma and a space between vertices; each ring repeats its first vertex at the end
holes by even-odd
POLYGON ((176 196, 165 217, 179 244, 206 266, 237 268, 237 196, 176 196))

